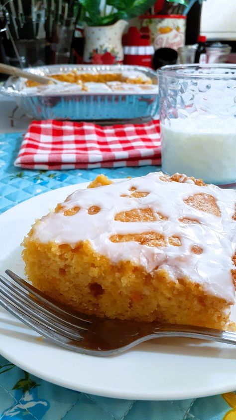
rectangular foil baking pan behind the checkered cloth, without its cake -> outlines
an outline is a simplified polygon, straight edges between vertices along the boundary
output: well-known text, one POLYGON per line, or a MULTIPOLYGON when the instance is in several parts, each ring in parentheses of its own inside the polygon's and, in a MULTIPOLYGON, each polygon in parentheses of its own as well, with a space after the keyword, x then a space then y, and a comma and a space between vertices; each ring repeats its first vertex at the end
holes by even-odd
MULTIPOLYGON (((50 75, 53 73, 79 72, 141 72, 157 84, 155 71, 141 66, 125 65, 50 65, 26 69, 33 73, 50 75)), ((30 118, 68 120, 110 120, 110 119, 150 119, 158 114, 158 88, 142 92, 84 92, 75 89, 54 88, 51 92, 36 93, 33 89, 22 90, 22 79, 9 77, 0 93, 15 98, 20 109, 30 118)), ((55 87, 55 86, 54 86, 55 87)))

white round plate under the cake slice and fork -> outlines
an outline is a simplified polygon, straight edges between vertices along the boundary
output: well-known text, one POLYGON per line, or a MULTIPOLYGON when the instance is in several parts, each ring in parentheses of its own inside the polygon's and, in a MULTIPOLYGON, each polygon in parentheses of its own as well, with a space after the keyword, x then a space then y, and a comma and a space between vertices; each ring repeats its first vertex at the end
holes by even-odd
MULTIPOLYGON (((0 273, 24 276, 20 242, 34 219, 87 183, 54 190, 0 215, 0 273)), ((20 368, 73 390, 106 397, 172 400, 236 389, 236 347, 169 338, 140 344, 119 356, 73 353, 41 339, 0 308, 0 353, 20 368)))

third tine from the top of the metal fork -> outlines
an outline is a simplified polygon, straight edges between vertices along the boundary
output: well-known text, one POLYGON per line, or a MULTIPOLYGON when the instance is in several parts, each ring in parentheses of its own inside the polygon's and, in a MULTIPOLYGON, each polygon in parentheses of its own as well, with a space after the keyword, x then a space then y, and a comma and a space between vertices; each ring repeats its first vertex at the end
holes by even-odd
MULTIPOLYGON (((22 295, 21 299, 19 299, 17 293, 15 293, 12 288, 9 289, 5 286, 3 286, 0 283, 0 293, 6 297, 11 303, 13 303, 15 306, 20 308, 22 311, 27 313, 31 318, 39 321, 41 324, 47 326, 48 328, 54 330, 55 332, 63 335, 64 337, 67 337, 72 340, 81 340, 81 331, 79 329, 73 330, 72 328, 68 327, 67 325, 63 325, 60 321, 56 321, 55 319, 51 319, 50 313, 42 313, 39 307, 35 308, 34 301, 30 300, 30 297, 28 297, 27 301, 24 299, 24 296, 22 295), (13 293, 12 293, 13 292, 13 293), (15 294, 14 294, 15 293, 15 294), (49 316, 48 316, 49 315, 49 316)), ((85 330, 86 331, 86 330, 85 330)))

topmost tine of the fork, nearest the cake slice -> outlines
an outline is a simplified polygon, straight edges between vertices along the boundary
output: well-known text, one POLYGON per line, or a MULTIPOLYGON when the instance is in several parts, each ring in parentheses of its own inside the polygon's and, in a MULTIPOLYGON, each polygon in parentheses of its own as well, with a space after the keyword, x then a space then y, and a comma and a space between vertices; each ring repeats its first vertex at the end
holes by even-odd
POLYGON ((61 305, 60 303, 56 302, 45 293, 41 292, 40 290, 36 289, 34 286, 29 284, 27 281, 23 280, 17 274, 13 273, 11 270, 5 270, 5 273, 12 278, 17 284, 19 284, 23 289, 27 290, 27 292, 33 294, 39 301, 46 303, 46 305, 57 312, 68 314, 69 316, 79 319, 85 323, 91 323, 88 315, 82 314, 80 312, 74 311, 73 309, 66 307, 66 305, 61 305))

